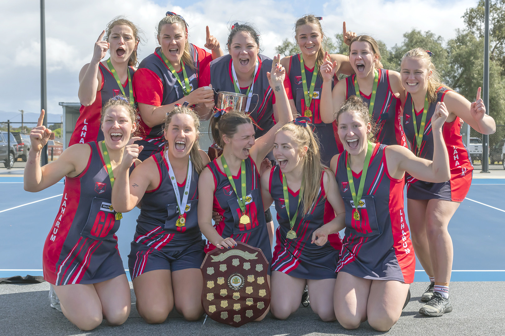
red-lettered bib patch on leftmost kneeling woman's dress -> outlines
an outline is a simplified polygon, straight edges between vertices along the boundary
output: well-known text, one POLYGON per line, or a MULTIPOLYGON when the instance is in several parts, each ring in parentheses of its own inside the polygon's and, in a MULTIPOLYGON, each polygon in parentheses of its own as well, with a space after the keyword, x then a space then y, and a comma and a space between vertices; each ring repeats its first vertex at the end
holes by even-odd
POLYGON ((116 219, 116 212, 112 208, 111 200, 94 197, 81 236, 95 240, 112 239, 119 229, 119 224, 120 220, 116 219))

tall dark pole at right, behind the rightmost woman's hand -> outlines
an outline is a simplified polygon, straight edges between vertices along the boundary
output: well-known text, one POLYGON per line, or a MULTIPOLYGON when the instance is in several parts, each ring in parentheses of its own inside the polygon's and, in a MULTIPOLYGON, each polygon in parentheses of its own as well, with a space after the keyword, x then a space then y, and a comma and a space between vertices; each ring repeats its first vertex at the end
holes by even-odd
MULTIPOLYGON (((484 83, 482 91, 484 92, 484 106, 486 114, 489 114, 489 0, 485 4, 485 33, 484 33, 484 83)), ((489 136, 482 136, 482 171, 489 173, 489 136)))

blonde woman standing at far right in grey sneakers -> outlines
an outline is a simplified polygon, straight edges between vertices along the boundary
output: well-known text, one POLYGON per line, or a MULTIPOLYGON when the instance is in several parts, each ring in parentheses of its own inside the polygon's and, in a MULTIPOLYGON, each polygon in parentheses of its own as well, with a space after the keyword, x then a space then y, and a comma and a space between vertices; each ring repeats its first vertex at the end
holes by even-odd
POLYGON ((430 277, 430 285, 421 296, 421 301, 428 303, 419 312, 440 316, 452 310, 449 282, 453 251, 447 226, 472 183, 473 166, 463 144, 461 119, 483 134, 492 134, 496 126, 493 118, 485 113, 480 88, 473 103, 450 90, 441 82, 431 55, 422 48, 408 51, 401 61, 401 81, 408 93, 403 107, 403 128, 418 157, 431 160, 434 155, 433 127, 429 120, 437 106, 444 105, 449 111, 442 134, 448 152, 450 179, 429 183, 415 176, 406 178, 412 243, 430 277))

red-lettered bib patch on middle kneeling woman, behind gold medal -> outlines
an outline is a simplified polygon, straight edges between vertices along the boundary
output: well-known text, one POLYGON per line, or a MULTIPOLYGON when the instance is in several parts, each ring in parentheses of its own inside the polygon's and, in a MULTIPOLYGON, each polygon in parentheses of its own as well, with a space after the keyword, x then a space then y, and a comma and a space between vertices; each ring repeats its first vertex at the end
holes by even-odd
POLYGON ((236 197, 228 199, 228 206, 233 215, 233 234, 254 231, 259 227, 260 223, 266 223, 259 189, 253 189, 247 192, 245 196, 245 215, 249 217, 249 223, 245 223, 246 221, 240 222, 243 214, 236 197), (260 213, 260 216, 258 216, 258 213, 260 213))

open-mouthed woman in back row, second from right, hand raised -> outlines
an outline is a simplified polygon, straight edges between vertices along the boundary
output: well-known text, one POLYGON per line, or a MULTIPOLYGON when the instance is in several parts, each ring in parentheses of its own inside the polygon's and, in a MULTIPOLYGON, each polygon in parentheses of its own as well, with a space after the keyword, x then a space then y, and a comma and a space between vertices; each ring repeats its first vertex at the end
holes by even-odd
POLYGON ((332 89, 335 66, 330 61, 321 66, 324 80, 321 118, 325 122, 334 120, 335 112, 347 98, 361 97, 377 124, 379 143, 407 147, 400 123, 400 106, 405 101, 405 89, 401 86, 399 73, 381 69, 380 57, 377 41, 360 35, 349 43, 349 61, 355 75, 340 81, 332 89))

